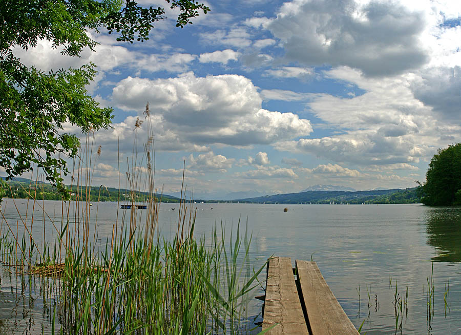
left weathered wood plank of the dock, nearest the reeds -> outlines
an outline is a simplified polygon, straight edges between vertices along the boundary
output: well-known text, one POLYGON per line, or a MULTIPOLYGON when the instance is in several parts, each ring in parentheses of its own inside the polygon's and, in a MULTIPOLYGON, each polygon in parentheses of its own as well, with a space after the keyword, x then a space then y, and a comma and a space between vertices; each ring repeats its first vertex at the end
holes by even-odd
POLYGON ((275 324, 278 325, 269 329, 267 335, 309 334, 288 257, 270 258, 267 268, 262 329, 275 324))

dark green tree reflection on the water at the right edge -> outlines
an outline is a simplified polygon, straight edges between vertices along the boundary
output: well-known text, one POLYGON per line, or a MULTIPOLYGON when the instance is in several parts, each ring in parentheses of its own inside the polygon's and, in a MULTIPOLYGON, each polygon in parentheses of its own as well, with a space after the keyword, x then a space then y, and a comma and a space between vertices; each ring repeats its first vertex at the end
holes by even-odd
POLYGON ((427 210, 427 240, 434 246, 438 262, 461 262, 461 207, 427 210))

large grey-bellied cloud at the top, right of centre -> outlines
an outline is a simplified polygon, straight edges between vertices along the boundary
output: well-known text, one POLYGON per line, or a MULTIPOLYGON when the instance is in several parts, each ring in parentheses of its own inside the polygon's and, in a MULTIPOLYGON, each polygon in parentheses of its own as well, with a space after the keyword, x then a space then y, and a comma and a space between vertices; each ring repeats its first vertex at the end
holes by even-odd
POLYGON ((346 65, 369 76, 403 73, 428 61, 421 46, 425 16, 391 2, 295 0, 280 8, 267 27, 286 57, 306 65, 346 65))

